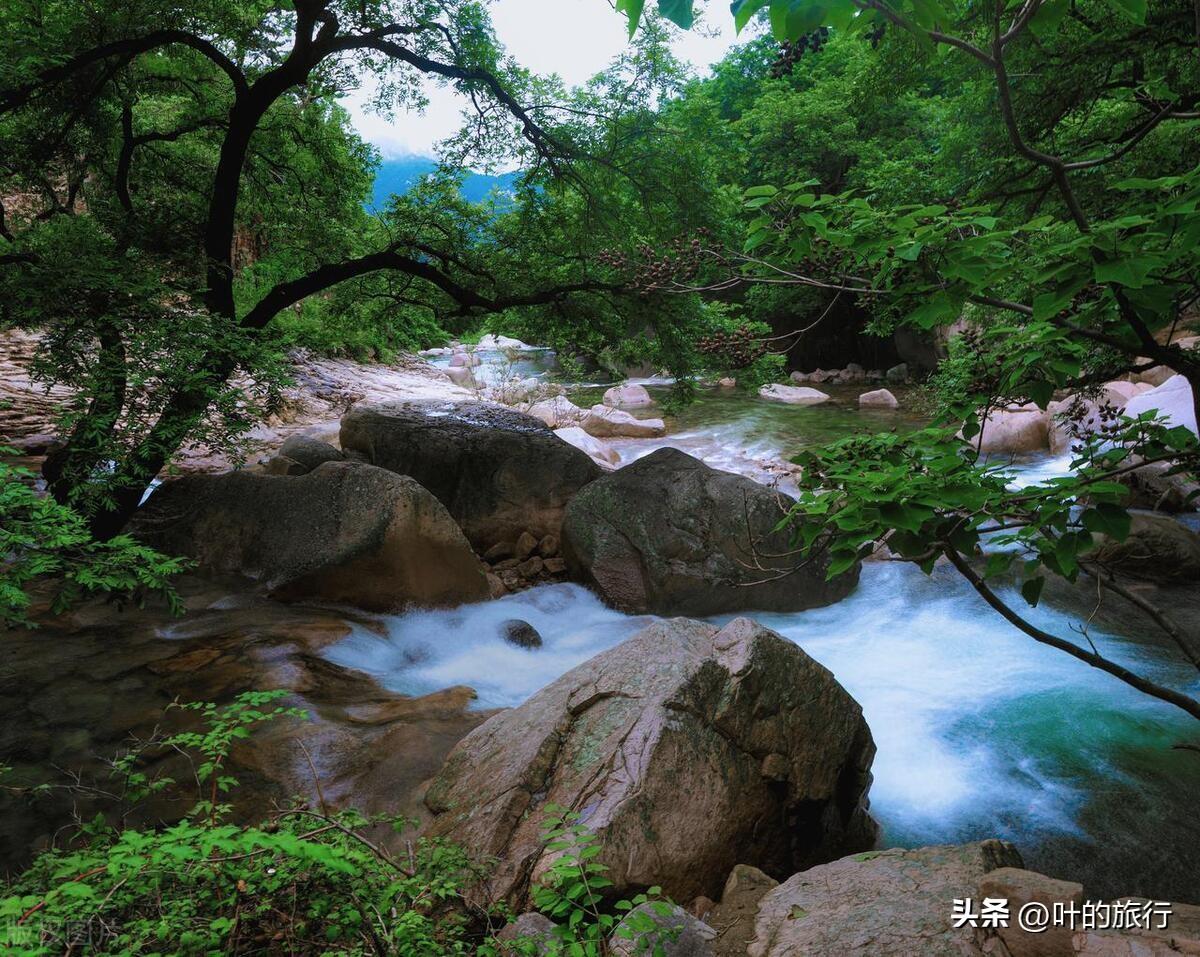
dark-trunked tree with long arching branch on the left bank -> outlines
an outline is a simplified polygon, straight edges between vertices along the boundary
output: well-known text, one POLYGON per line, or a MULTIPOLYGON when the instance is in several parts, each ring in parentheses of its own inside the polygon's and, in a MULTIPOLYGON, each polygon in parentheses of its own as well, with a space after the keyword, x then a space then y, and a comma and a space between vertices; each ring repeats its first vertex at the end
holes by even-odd
POLYGON ((452 84, 481 152, 566 171, 553 104, 521 104, 539 85, 478 2, 19 0, 0 28, 0 294, 7 321, 54 320, 42 372, 79 403, 46 475, 101 538, 184 443, 229 440, 270 403, 271 324, 304 300, 379 272, 468 312, 594 284, 466 284, 398 219, 364 228, 370 154, 334 102, 360 84, 384 109, 419 102, 419 77, 452 84))

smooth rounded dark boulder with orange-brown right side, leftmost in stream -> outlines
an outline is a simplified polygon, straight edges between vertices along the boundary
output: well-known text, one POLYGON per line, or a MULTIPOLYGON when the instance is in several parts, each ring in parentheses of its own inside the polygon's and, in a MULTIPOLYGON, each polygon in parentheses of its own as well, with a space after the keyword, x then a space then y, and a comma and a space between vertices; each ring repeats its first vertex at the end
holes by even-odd
POLYGON ((130 531, 284 601, 376 612, 481 601, 487 579, 454 519, 412 478, 356 462, 163 483, 130 531))

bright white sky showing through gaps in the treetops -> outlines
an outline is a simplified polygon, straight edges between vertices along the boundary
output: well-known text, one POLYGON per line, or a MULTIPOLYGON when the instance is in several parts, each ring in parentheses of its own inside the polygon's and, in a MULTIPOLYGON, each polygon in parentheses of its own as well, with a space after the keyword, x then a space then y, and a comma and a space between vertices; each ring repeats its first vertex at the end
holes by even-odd
MULTIPOLYGON (((647 7, 650 5, 647 4, 647 7)), ((732 17, 714 4, 710 24, 680 34, 673 49, 701 74, 720 60, 734 41, 732 17)), ((608 0, 492 0, 496 35, 517 62, 535 73, 558 73, 576 85, 600 72, 628 42, 624 16, 608 0)), ((401 113, 380 118, 364 107, 366 92, 343 101, 359 133, 384 158, 433 156, 434 144, 458 130, 461 98, 450 89, 426 84, 430 106, 424 115, 401 113)))

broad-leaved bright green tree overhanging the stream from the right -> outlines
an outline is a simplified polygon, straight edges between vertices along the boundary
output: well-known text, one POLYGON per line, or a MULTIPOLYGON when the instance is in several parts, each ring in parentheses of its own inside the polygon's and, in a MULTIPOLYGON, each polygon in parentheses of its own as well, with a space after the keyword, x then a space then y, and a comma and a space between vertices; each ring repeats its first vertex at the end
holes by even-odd
MULTIPOLYGON (((636 29, 642 4, 619 7, 636 29)), ((664 0, 660 10, 680 23, 692 16, 690 4, 664 0)), ((654 287, 794 284, 869 302, 882 327, 970 323, 942 372, 938 428, 853 438, 798 459, 799 550, 830 549, 834 572, 880 543, 926 570, 948 560, 1036 640, 1200 718, 1194 697, 1104 657, 1086 632, 1082 643, 1045 632, 996 585, 1019 570, 1036 604, 1046 573, 1088 576, 1200 669, 1190 638, 1093 552, 1098 534, 1128 534, 1118 480, 1153 463, 1194 476, 1196 437, 1102 408, 1100 429, 1080 429, 1074 474, 1025 489, 971 444, 989 410, 1026 401, 1044 409, 1056 392, 1082 408, 1104 381, 1154 366, 1183 377, 1200 413, 1200 354, 1175 342, 1200 302, 1195 10, 1123 0, 733 4, 739 26, 760 11, 788 42, 818 29, 877 41, 886 30, 908 54, 925 54, 922 71, 958 70, 946 66, 956 58, 985 92, 968 120, 976 145, 1000 155, 980 186, 936 203, 881 204, 822 192, 816 180, 755 186, 744 246, 704 247, 654 287)))

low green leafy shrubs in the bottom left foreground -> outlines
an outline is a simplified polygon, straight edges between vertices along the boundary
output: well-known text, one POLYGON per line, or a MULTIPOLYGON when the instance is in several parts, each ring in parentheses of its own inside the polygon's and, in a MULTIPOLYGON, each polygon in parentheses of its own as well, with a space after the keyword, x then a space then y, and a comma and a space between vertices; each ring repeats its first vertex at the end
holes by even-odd
POLYGON ((662 953, 671 932, 644 910, 629 914, 640 904, 666 913, 652 899, 658 889, 606 899, 611 881, 592 860, 595 837, 562 809, 547 808, 545 841, 557 856, 534 890, 535 905, 553 921, 548 940, 498 940, 504 908, 470 903, 487 862, 443 841, 401 842, 412 826, 403 818, 295 803, 260 825, 230 823, 233 745, 264 722, 305 717, 278 704, 283 696, 246 692, 226 705, 182 705, 199 716, 196 730, 119 756, 110 793, 120 806, 112 817, 125 820, 178 787, 146 770, 170 751, 191 760, 194 806, 155 827, 114 826, 98 814, 40 854, 0 890, 5 952, 604 957, 608 940, 620 938, 637 953, 662 953))

